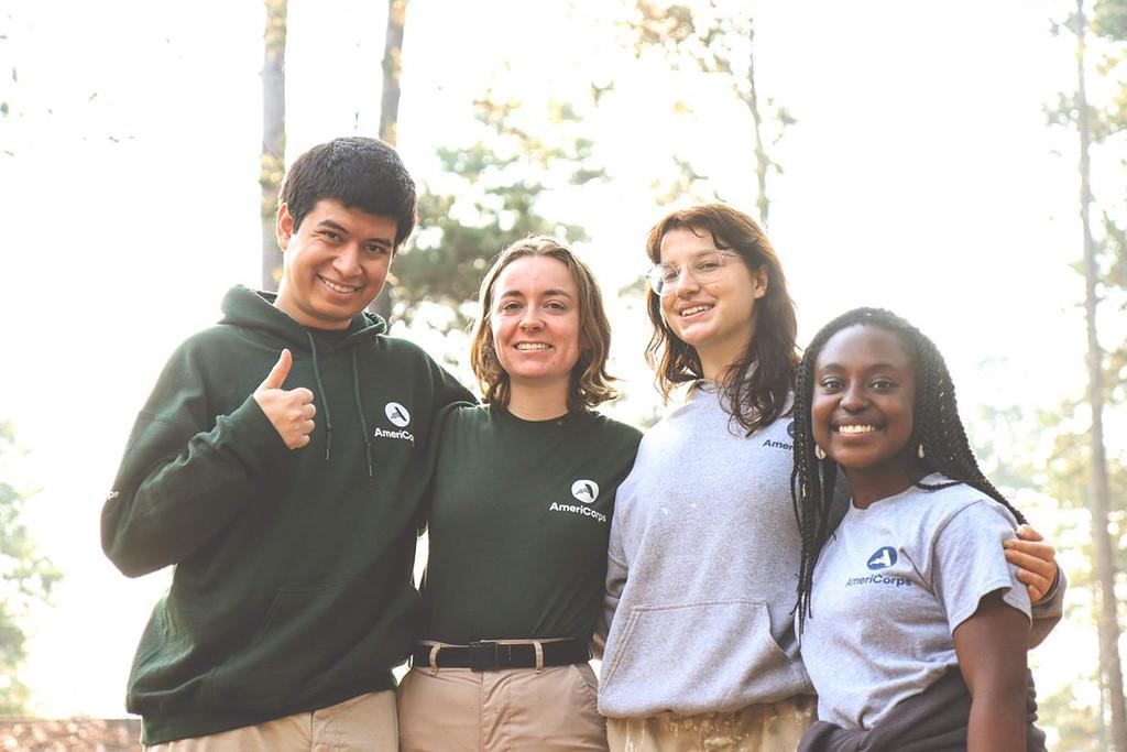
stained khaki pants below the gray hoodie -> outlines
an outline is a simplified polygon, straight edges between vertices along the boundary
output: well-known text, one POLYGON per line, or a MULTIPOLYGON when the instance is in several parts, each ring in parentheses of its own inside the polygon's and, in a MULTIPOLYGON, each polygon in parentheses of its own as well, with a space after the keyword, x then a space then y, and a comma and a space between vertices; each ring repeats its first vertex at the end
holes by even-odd
POLYGON ((795 752, 818 709, 813 697, 752 705, 734 713, 607 718, 614 752, 795 752))

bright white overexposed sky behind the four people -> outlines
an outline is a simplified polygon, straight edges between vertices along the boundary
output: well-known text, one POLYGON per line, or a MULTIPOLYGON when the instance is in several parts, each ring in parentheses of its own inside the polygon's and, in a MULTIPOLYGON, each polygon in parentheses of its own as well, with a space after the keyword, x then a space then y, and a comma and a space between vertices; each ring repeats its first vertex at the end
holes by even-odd
MULTIPOLYGON (((434 149, 472 140, 469 103, 487 85, 535 114, 613 81, 591 134, 615 179, 558 201, 561 219, 588 228, 579 250, 613 295, 646 265, 660 214, 650 184, 672 175, 673 154, 753 210, 749 121, 717 81, 618 50, 605 17, 592 20, 611 3, 577 2, 576 18, 565 5, 412 0, 400 149, 433 179, 434 149), (676 101, 696 117, 674 116, 676 101)), ((133 648, 167 584, 167 573, 122 577, 101 556, 98 516, 168 353, 218 317, 231 284, 257 282, 259 6, 0 3, 0 99, 11 103, 0 416, 30 451, 18 480, 42 489, 30 522, 65 573, 27 664, 43 714, 123 714, 133 648)), ((291 157, 375 131, 383 6, 290 1, 291 157)), ((848 308, 885 306, 937 339, 968 409, 1051 405, 1083 383, 1074 139, 1042 114, 1072 86, 1072 50, 1048 33, 1068 7, 763 3, 761 97, 799 121, 773 150, 786 174, 771 185, 770 233, 804 339, 848 308), (1003 362, 991 379, 978 371, 987 359, 1003 362)), ((646 329, 635 308, 613 308, 629 419, 655 401, 646 329)))

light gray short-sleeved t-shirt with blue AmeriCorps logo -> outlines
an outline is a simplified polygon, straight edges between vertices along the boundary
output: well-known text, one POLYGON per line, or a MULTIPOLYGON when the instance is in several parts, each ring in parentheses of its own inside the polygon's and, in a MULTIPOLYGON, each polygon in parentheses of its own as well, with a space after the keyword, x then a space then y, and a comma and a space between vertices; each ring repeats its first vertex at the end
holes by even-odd
POLYGON ((1015 525, 1009 510, 961 484, 913 486, 850 508, 815 568, 802 634, 818 718, 868 729, 930 687, 958 665, 951 635, 988 593, 1002 590, 1028 617, 1029 594, 1002 549, 1015 525))

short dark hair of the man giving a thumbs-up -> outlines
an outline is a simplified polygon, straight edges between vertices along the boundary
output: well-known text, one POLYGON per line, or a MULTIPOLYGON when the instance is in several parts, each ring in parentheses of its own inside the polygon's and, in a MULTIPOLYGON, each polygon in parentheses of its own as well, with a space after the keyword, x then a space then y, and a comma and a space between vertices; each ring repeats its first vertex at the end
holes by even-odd
POLYGON ((397 248, 415 229, 415 180, 396 150, 378 139, 334 139, 294 160, 278 196, 294 231, 322 198, 393 219, 397 248))

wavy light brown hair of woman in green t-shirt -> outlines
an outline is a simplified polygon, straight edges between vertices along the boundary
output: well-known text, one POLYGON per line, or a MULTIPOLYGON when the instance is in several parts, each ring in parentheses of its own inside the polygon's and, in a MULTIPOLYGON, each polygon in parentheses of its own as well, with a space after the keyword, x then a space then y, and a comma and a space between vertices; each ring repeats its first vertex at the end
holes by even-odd
POLYGON ((532 236, 517 240, 498 254, 494 265, 481 281, 478 293, 480 315, 473 327, 470 346, 470 364, 473 375, 481 384, 482 399, 491 405, 507 406, 511 396, 508 373, 497 359, 492 338, 492 293, 497 277, 505 267, 530 256, 554 258, 568 268, 579 293, 579 361, 571 370, 567 407, 569 412, 589 409, 602 402, 618 398, 619 392, 611 387, 616 381, 606 372, 606 360, 611 353, 611 324, 603 308, 603 295, 591 268, 579 260, 570 248, 554 238, 532 236))

